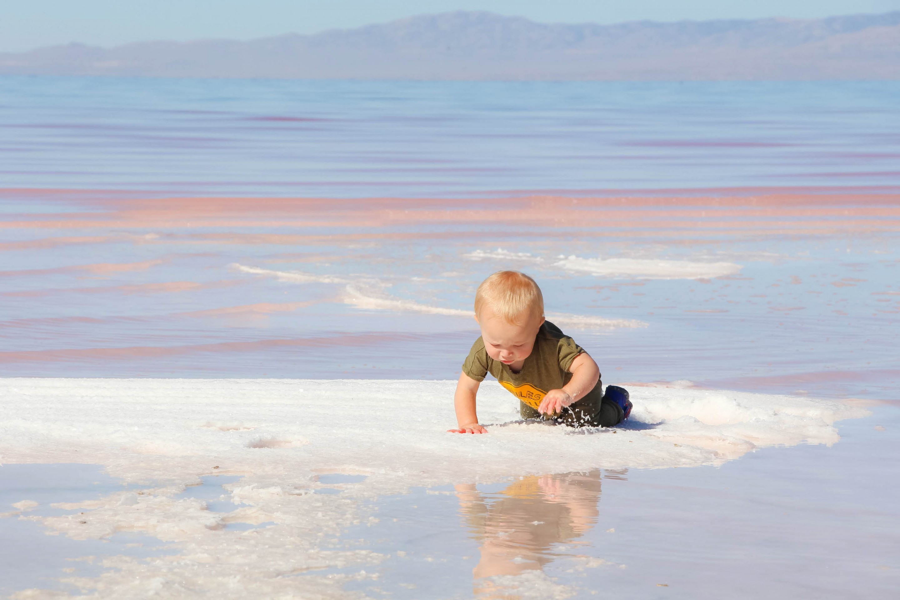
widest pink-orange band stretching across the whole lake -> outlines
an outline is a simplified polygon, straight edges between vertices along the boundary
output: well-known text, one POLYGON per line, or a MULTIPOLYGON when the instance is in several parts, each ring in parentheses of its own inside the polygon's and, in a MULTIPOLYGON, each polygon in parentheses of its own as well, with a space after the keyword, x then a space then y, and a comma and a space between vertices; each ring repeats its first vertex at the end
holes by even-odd
MULTIPOLYGON (((55 196, 52 191, 45 192, 49 196, 55 196)), ((0 190, 0 199, 9 193, 14 191, 0 190)), ((774 229, 810 233, 900 229, 900 193, 769 193, 727 197, 530 196, 498 198, 491 201, 434 198, 347 200, 189 196, 119 197, 94 199, 88 202, 93 204, 95 210, 33 213, 26 219, 20 214, 18 219, 14 217, 0 221, 0 228, 298 227, 371 230, 491 222, 508 226, 557 228, 578 226, 638 230, 689 228, 734 231, 774 229)), ((452 237, 462 232, 443 233, 452 237)), ((423 235, 431 236, 435 233, 423 235)), ((97 237, 93 239, 101 241, 97 237)), ((58 242, 46 243, 53 245, 58 242)), ((0 243, 0 250, 26 249, 37 244, 40 244, 40 241, 9 241, 0 243)))

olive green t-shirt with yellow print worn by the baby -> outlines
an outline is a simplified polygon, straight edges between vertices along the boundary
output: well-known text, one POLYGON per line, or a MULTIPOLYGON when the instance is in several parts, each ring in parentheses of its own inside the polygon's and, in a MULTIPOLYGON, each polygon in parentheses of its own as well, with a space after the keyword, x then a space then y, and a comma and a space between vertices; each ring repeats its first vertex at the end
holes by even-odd
MULTIPOLYGON (((508 364, 493 360, 484 348, 484 340, 479 337, 463 363, 463 372, 475 381, 484 381, 485 376, 491 373, 500 385, 526 405, 522 407, 522 416, 534 418, 546 393, 559 390, 572 379, 569 367, 582 352, 584 348, 575 344, 575 340, 563 334, 550 321, 545 321, 537 331, 535 347, 522 364, 521 371, 512 372, 508 364)), ((595 405, 599 410, 602 395, 598 381, 594 389, 575 404, 593 413, 595 405)))

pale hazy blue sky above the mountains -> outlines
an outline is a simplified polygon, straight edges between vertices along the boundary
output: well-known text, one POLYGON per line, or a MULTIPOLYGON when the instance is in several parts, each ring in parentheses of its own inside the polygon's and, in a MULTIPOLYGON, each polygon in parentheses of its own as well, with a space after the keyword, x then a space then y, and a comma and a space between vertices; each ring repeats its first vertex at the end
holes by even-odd
POLYGON ((69 41, 247 40, 459 9, 609 23, 886 13, 900 10, 900 0, 0 0, 0 51, 69 41))

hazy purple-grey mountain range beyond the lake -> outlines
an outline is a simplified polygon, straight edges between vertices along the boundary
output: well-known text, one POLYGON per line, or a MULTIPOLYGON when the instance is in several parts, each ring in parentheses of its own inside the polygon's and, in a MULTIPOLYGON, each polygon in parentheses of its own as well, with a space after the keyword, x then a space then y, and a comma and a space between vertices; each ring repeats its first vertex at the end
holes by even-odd
POLYGON ((420 80, 900 79, 900 12, 826 19, 545 24, 430 14, 250 41, 0 53, 0 74, 420 80))

